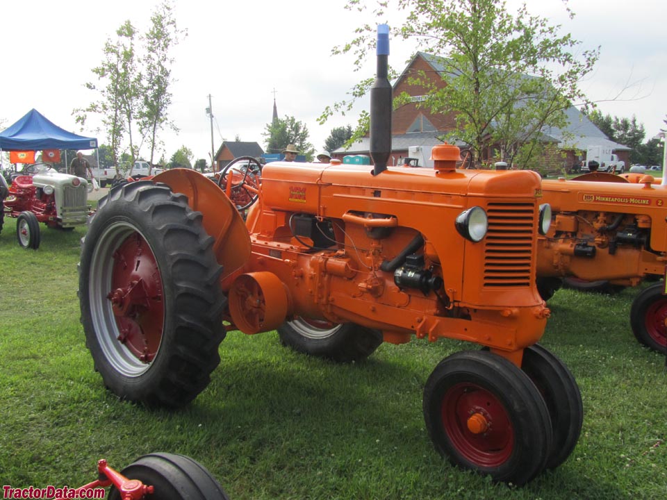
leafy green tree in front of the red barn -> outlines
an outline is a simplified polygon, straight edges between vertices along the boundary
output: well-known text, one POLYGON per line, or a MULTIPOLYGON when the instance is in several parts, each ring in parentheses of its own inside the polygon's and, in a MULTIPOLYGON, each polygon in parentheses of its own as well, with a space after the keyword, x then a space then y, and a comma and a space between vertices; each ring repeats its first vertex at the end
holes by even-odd
MULTIPOLYGON (((366 1, 349 0, 347 7, 364 10, 366 1)), ((375 3, 374 12, 384 20, 390 2, 375 3)), ((562 128, 566 108, 587 102, 577 82, 591 72, 599 49, 582 51, 571 35, 559 33, 561 26, 529 14, 525 5, 511 15, 502 0, 393 4, 405 12, 402 25, 393 28, 393 38, 413 40, 418 49, 435 56, 446 85, 438 88, 432 75, 423 72, 409 75, 409 83, 427 89, 429 98, 422 106, 431 113, 455 114, 456 130, 448 139, 470 144, 478 158, 489 144, 497 144, 504 159, 529 165, 541 147, 543 128, 562 128)), ((374 47, 375 28, 367 24, 357 33, 334 53, 353 52, 359 68, 374 47)), ((368 85, 368 80, 362 82, 353 97, 368 85)), ((327 108, 321 118, 331 112, 327 108)))

